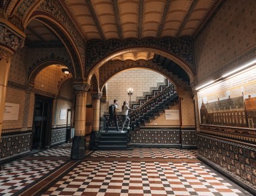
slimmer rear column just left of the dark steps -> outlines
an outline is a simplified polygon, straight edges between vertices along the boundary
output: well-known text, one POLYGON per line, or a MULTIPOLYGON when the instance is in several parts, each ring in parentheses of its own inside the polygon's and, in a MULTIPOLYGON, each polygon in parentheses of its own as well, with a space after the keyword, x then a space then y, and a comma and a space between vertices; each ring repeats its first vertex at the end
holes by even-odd
POLYGON ((102 93, 90 93, 92 96, 92 132, 90 133, 90 149, 97 149, 97 138, 99 136, 99 117, 102 93))

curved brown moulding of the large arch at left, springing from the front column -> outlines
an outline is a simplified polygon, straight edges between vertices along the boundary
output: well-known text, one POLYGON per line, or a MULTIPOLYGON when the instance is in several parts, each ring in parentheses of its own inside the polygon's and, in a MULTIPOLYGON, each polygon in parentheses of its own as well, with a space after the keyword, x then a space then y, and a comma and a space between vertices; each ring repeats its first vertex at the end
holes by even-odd
MULTIPOLYGON (((54 31, 54 33, 58 36, 58 38, 63 42, 67 52, 71 57, 71 61, 73 64, 73 74, 76 80, 83 79, 83 62, 82 58, 79 55, 79 49, 77 48, 77 44, 72 39, 72 36, 68 33, 67 29, 52 15, 44 11, 36 11, 31 15, 29 21, 36 19, 47 26, 49 29, 54 31)), ((27 23, 29 24, 29 22, 27 23)))

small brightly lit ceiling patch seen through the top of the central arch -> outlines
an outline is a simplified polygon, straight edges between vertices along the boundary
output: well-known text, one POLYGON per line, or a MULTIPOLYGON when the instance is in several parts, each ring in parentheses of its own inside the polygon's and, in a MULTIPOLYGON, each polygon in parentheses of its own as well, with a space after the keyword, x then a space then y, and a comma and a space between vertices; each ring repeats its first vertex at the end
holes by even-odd
POLYGON ((129 53, 124 53, 122 55, 115 56, 111 61, 127 61, 127 60, 132 60, 132 61, 138 61, 138 60, 150 60, 154 57, 154 53, 152 52, 129 52, 129 53))

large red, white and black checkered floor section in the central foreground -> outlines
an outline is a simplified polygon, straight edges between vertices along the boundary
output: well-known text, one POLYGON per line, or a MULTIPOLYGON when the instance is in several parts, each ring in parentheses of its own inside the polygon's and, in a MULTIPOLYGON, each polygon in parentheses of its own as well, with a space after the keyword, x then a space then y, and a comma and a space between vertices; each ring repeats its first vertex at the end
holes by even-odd
POLYGON ((249 195, 201 163, 82 162, 43 195, 249 195))

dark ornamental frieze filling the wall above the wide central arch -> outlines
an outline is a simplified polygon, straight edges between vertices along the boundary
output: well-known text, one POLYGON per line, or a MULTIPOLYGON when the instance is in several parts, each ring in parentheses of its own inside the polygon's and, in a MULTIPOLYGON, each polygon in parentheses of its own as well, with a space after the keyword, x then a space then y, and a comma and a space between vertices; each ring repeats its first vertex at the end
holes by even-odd
POLYGON ((173 55, 178 56, 185 61, 193 71, 195 66, 193 64, 193 39, 192 37, 179 37, 177 39, 172 37, 164 37, 161 39, 144 38, 120 40, 89 40, 86 50, 86 71, 89 71, 101 59, 111 55, 111 53, 118 50, 136 47, 146 47, 164 50, 173 55))

